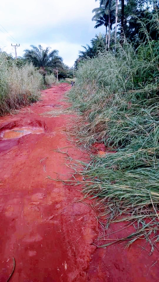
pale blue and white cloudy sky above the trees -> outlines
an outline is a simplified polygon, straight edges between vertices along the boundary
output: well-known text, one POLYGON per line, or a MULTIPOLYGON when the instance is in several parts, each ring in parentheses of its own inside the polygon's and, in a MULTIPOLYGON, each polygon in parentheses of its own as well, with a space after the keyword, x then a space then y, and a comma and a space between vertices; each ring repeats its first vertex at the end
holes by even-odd
POLYGON ((50 46, 59 50, 65 64, 73 66, 81 45, 105 32, 104 26, 95 29, 91 20, 92 10, 98 6, 95 0, 1 1, 0 48, 15 57, 11 43, 20 43, 17 56, 31 44, 50 46))

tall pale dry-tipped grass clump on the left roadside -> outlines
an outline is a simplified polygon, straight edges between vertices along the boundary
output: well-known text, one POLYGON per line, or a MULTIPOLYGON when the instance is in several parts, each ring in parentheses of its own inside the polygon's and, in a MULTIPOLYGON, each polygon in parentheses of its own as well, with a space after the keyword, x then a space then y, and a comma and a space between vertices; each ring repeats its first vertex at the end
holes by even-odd
POLYGON ((0 115, 39 100, 43 77, 32 64, 18 67, 0 53, 0 115))

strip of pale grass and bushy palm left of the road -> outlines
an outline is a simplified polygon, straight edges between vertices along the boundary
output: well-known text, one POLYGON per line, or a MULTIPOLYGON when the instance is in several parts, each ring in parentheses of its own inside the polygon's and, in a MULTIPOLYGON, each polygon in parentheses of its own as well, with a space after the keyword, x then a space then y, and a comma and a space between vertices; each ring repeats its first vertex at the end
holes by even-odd
POLYGON ((38 101, 40 90, 58 79, 73 78, 73 68, 64 65, 58 50, 31 47, 17 59, 0 50, 0 115, 38 101))

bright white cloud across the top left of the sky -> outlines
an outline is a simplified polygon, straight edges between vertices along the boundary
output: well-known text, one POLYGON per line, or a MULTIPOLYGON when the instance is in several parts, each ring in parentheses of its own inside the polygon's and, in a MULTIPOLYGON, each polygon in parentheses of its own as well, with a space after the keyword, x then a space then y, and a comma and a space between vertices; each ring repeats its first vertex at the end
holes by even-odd
POLYGON ((28 27, 67 24, 86 19, 97 6, 94 0, 6 0, 1 3, 0 19, 5 26, 28 27))

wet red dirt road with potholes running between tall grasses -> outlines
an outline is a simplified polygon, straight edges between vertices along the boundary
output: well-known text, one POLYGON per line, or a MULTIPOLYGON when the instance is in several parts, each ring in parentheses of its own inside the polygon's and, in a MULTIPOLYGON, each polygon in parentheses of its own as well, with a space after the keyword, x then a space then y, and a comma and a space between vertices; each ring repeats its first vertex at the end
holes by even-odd
MULTIPOLYGON (((0 120, 0 281, 9 278, 14 257, 13 282, 157 282, 157 247, 151 255, 144 240, 128 249, 123 244, 96 248, 94 244, 107 241, 97 241, 101 227, 92 201, 82 200, 78 186, 47 178, 67 180, 72 175, 64 164, 66 155, 52 149, 65 147, 61 150, 73 159, 87 157, 61 130, 71 115, 39 115, 66 107, 61 99, 69 88, 62 84, 44 90, 40 103, 0 120)), ((123 226, 113 224, 107 234, 123 226)), ((108 239, 131 231, 123 229, 108 239)))

